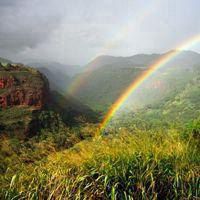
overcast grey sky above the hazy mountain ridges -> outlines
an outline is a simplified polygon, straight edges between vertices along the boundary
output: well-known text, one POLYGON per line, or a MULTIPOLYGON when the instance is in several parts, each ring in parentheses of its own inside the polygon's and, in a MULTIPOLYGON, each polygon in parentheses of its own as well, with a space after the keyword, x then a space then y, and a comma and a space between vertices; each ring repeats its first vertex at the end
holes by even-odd
POLYGON ((199 8, 199 0, 0 0, 0 57, 86 65, 98 55, 162 53, 200 34, 199 8))

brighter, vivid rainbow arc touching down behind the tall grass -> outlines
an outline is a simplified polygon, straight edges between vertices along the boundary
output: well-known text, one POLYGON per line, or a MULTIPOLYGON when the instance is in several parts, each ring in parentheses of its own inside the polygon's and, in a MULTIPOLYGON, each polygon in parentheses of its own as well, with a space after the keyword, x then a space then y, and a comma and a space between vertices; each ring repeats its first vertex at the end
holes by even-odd
POLYGON ((183 44, 179 45, 175 51, 171 51, 162 56, 159 60, 153 63, 148 70, 144 71, 137 79, 128 86, 128 88, 122 93, 122 95, 115 101, 115 103, 110 107, 109 111, 105 115, 101 125, 100 131, 104 130, 106 125, 116 114, 119 108, 124 104, 128 97, 151 75, 153 75, 159 68, 164 67, 169 63, 173 58, 182 53, 183 50, 187 50, 191 46, 195 45, 200 41, 200 34, 193 36, 183 44))

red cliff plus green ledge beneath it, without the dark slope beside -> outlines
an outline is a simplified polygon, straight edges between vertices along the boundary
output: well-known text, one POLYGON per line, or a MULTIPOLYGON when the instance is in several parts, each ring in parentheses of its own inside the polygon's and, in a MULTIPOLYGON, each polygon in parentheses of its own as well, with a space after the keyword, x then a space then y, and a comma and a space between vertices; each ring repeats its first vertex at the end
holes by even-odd
POLYGON ((0 133, 35 134, 49 99, 49 84, 39 71, 0 62, 0 133))

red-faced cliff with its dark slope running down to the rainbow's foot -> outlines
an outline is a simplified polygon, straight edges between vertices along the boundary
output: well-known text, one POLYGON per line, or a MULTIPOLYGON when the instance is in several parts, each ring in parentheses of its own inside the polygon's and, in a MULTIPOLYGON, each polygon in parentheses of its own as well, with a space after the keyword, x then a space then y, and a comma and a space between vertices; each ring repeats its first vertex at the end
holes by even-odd
POLYGON ((42 129, 58 130, 96 119, 88 106, 50 91, 38 70, 0 61, 0 134, 34 136, 42 129))

